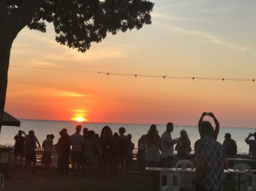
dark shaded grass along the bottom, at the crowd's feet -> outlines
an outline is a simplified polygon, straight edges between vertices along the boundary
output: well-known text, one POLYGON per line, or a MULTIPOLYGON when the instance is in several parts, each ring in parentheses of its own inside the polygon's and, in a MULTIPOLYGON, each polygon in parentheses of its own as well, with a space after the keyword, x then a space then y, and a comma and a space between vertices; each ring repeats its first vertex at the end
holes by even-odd
MULTIPOLYGON (((56 169, 36 167, 27 170, 10 167, 5 179, 7 191, 151 191, 152 179, 145 175, 130 175, 125 178, 88 179, 82 176, 59 175, 56 169)), ((225 181, 225 191, 232 190, 232 181, 225 181)), ((158 191, 156 189, 155 191, 158 191)))

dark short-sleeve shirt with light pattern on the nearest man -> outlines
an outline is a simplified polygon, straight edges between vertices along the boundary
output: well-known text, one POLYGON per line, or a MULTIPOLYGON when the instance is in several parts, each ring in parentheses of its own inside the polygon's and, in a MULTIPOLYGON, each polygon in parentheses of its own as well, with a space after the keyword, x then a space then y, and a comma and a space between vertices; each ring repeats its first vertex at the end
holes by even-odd
POLYGON ((197 141, 197 158, 200 155, 206 156, 206 165, 200 184, 207 190, 222 190, 224 161, 226 155, 223 146, 211 137, 201 138, 197 141))

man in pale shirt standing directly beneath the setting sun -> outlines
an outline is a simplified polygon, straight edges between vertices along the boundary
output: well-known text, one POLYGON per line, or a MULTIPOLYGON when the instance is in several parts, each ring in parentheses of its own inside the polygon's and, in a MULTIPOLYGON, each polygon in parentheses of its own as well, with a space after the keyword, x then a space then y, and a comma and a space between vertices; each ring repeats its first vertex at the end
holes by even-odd
POLYGON ((83 161, 83 147, 84 147, 84 137, 80 135, 81 125, 76 126, 76 133, 70 136, 70 144, 72 146, 71 156, 72 156, 72 168, 79 170, 82 168, 83 161))

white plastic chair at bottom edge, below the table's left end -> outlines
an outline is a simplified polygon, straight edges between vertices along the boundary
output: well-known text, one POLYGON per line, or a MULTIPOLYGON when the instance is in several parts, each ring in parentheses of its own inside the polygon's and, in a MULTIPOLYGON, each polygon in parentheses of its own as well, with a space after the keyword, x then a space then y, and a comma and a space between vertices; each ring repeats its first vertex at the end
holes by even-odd
POLYGON ((180 191, 180 175, 178 173, 161 171, 160 191, 180 191))

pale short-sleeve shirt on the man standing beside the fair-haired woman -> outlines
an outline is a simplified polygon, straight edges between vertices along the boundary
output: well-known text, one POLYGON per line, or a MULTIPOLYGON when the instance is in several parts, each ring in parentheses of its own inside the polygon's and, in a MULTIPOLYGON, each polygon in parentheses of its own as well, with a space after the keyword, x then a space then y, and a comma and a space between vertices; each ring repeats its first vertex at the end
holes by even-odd
POLYGON ((169 148, 166 147, 167 144, 171 144, 172 138, 171 133, 168 133, 165 131, 161 137, 161 147, 162 147, 162 155, 161 158, 166 158, 168 156, 174 155, 174 146, 171 146, 169 148))

